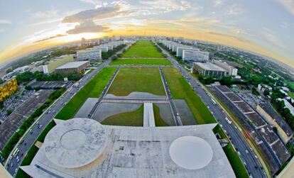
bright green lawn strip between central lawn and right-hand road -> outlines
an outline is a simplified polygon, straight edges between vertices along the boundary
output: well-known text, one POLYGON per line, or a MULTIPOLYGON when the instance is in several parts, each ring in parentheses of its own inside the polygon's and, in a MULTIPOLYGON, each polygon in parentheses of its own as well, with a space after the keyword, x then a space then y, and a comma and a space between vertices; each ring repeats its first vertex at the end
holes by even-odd
POLYGON ((163 72, 173 99, 185 99, 198 124, 216 123, 200 97, 175 67, 164 67, 163 72))

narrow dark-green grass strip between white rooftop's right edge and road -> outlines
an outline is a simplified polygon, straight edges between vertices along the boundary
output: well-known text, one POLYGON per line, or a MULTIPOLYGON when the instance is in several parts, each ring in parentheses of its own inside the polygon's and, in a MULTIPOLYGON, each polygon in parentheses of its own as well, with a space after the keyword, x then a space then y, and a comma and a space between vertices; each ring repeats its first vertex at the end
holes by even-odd
MULTIPOLYGON (((222 130, 222 128, 219 125, 217 125, 214 128, 214 133, 219 133, 221 138, 226 138, 227 140, 229 140, 227 138, 227 135, 224 133, 224 130, 222 130)), ((232 168, 234 170, 236 177, 242 177, 242 178, 249 177, 239 155, 234 150, 231 143, 229 143, 223 149, 224 149, 224 153, 227 155, 227 158, 228 158, 230 164, 232 165, 232 168)))

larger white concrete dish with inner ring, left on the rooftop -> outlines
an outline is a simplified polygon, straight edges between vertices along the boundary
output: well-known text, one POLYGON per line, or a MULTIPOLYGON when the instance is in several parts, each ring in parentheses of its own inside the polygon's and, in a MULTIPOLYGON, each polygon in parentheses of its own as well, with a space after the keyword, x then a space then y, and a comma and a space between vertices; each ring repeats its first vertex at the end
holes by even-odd
POLYGON ((103 126, 89 118, 58 123, 46 135, 45 155, 59 167, 75 168, 96 160, 107 145, 103 126))

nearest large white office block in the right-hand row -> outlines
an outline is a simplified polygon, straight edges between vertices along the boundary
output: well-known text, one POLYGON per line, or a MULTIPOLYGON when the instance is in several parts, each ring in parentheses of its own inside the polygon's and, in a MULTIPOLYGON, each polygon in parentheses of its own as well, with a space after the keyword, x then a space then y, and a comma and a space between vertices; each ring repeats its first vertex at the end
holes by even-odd
POLYGON ((198 49, 183 50, 182 59, 194 62, 205 62, 209 60, 209 52, 199 51, 198 49))

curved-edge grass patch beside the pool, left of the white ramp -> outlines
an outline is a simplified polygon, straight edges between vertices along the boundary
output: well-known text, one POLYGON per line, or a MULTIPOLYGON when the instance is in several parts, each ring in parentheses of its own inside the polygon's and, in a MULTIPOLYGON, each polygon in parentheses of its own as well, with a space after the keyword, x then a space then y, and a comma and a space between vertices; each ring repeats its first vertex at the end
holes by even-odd
POLYGON ((143 104, 136 111, 118 113, 101 123, 111 126, 143 126, 143 104))

